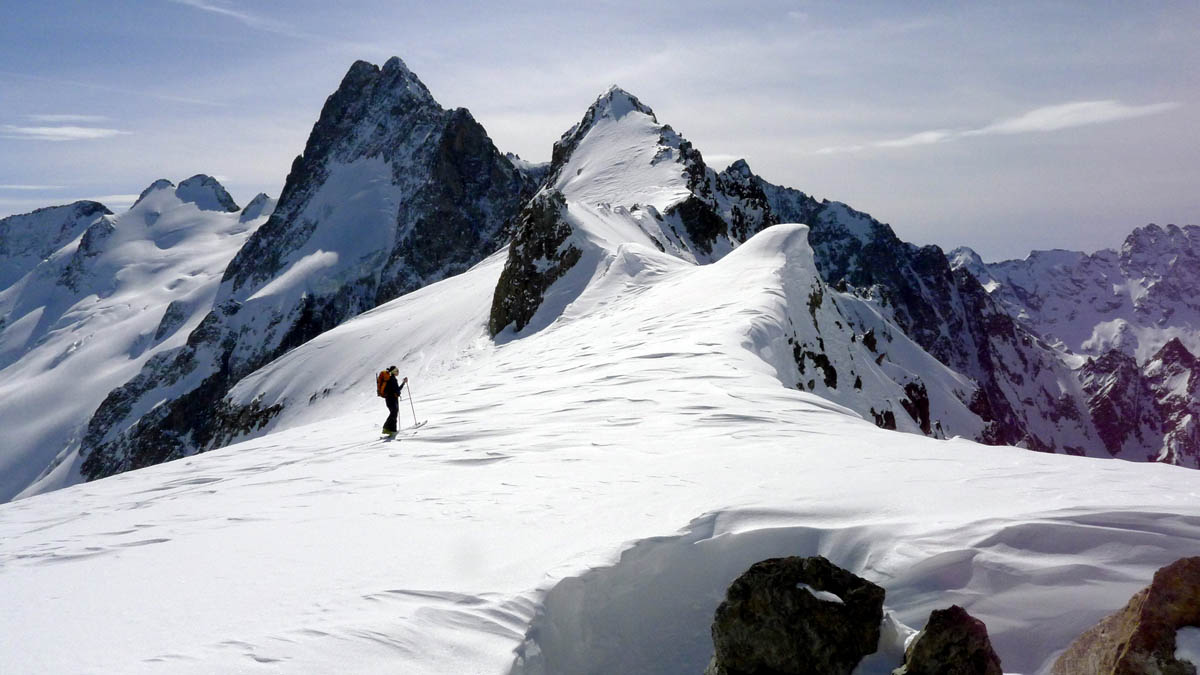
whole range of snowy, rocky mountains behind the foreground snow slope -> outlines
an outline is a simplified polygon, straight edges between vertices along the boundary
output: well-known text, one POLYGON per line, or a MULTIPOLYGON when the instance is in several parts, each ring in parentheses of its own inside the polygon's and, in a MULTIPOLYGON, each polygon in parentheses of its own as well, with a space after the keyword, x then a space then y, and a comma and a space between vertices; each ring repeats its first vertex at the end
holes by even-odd
POLYGON ((947 256, 744 161, 714 171, 616 86, 548 165, 521 161, 394 58, 350 67, 277 203, 240 209, 197 175, 120 215, 79 202, 0 220, 0 500, 301 414, 295 392, 256 384, 272 362, 505 246, 497 342, 582 311, 636 247, 706 265, 780 223, 809 226, 786 251, 787 321, 756 327, 781 386, 900 431, 1200 467, 1200 228, 1147 226, 1093 255, 947 256))

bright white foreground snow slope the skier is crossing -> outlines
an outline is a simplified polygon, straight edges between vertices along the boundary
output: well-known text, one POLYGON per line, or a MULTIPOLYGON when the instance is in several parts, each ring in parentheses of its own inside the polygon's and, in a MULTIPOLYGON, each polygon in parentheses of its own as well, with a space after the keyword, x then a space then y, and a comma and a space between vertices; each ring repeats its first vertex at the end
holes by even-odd
POLYGON ((1195 552, 1190 471, 886 431, 784 387, 805 233, 703 267, 622 246, 496 342, 498 253, 244 380, 292 401, 272 432, 0 506, 0 670, 698 673, 734 577, 820 554, 913 628, 966 607, 1040 673, 1195 552), (389 363, 430 419, 391 443, 389 363))

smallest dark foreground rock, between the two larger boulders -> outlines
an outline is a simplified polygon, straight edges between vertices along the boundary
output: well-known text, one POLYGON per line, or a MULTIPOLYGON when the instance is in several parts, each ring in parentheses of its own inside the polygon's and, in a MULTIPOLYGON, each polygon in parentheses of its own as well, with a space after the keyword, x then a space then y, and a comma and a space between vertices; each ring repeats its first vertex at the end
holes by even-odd
POLYGON ((959 605, 935 609, 893 675, 1003 675, 988 627, 959 605))

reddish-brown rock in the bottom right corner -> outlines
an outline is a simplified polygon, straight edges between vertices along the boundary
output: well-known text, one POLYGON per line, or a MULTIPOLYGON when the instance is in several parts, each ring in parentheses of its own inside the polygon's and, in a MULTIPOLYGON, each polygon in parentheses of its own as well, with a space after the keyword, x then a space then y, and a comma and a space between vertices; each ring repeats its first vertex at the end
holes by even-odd
POLYGON ((1051 675, 1195 675, 1175 658, 1175 633, 1200 626, 1200 557, 1154 573, 1150 586, 1067 647, 1051 675))

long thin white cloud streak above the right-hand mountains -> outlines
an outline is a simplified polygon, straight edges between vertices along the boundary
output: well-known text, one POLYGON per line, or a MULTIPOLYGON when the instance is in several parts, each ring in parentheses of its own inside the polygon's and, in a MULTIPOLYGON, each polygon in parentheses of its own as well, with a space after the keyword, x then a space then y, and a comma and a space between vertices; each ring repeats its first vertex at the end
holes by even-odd
POLYGON ((912 148, 914 145, 931 145, 934 143, 946 143, 973 136, 1044 133, 1079 126, 1157 115, 1178 107, 1180 104, 1174 102, 1152 103, 1148 106, 1127 106, 1120 101, 1076 101, 1073 103, 1061 103, 1057 106, 1036 108, 1022 115, 998 120, 978 129, 959 131, 938 129, 932 131, 922 131, 919 133, 905 136, 904 138, 821 148, 820 150, 816 150, 816 154, 834 155, 840 153, 859 153, 874 148, 912 148))

